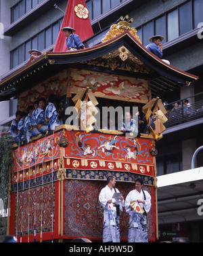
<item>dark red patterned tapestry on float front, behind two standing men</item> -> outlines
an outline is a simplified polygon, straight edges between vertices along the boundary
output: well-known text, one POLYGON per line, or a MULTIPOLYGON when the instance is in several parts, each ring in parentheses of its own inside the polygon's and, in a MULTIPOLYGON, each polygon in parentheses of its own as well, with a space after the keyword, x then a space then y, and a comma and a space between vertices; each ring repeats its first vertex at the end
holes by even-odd
MULTIPOLYGON (((99 205, 99 193, 106 186, 106 181, 65 181, 65 236, 85 236, 102 240, 103 208, 99 205)), ((134 189, 134 183, 117 182, 116 188, 126 198, 134 189)), ((145 186, 150 194, 152 187, 145 186)), ((151 240, 155 232, 152 211, 148 213, 148 238, 151 240)), ((120 238, 128 237, 129 215, 123 210, 120 214, 120 238)))

